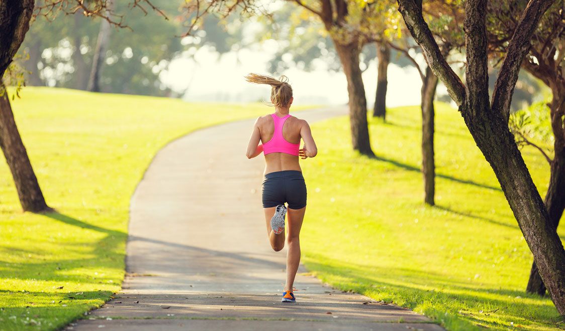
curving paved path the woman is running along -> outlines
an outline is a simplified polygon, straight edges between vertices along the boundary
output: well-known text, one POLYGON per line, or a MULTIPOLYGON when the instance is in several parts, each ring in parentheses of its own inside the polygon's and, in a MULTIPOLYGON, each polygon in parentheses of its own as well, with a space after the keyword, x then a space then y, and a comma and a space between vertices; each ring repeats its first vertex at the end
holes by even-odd
MULTIPOLYGON (((298 116, 312 122, 339 114, 345 109, 298 116)), ((122 291, 68 328, 442 330, 410 310, 341 293, 308 275, 295 281, 297 303, 280 302, 286 249, 275 253, 268 244, 264 161, 245 157, 252 125, 195 131, 157 154, 132 197, 122 291)))

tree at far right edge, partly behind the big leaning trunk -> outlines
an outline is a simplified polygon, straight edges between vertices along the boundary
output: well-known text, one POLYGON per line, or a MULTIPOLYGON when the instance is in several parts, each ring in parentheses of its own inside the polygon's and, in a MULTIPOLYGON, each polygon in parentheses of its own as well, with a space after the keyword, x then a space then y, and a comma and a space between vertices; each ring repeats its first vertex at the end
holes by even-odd
MULTIPOLYGON (((489 46, 496 58, 502 58, 508 45, 507 40, 515 33, 521 12, 527 1, 497 1, 489 3, 488 32, 489 46)), ((549 213, 550 224, 555 230, 565 210, 565 70, 563 58, 565 52, 565 3, 555 1, 554 5, 540 20, 539 28, 530 41, 528 56, 522 67, 538 78, 551 90, 549 105, 551 130, 554 136, 554 157, 544 153, 550 165, 549 186, 545 195, 545 206, 549 213)), ((527 136, 516 134, 519 142, 534 145, 527 136)), ((537 147, 542 151, 541 148, 537 147)), ((533 262, 527 292, 545 294, 545 285, 533 262)))

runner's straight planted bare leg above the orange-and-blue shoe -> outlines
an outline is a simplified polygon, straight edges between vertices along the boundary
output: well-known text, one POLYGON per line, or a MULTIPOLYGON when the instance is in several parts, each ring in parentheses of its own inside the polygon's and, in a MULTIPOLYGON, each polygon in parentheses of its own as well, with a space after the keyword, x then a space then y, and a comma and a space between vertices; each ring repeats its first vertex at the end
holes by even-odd
POLYGON ((306 207, 301 209, 288 209, 288 238, 286 239, 288 243, 288 252, 286 253, 286 284, 284 285, 284 290, 292 291, 292 286, 294 285, 294 277, 298 271, 298 265, 300 264, 300 229, 302 227, 302 221, 304 220, 304 214, 306 213, 306 207))

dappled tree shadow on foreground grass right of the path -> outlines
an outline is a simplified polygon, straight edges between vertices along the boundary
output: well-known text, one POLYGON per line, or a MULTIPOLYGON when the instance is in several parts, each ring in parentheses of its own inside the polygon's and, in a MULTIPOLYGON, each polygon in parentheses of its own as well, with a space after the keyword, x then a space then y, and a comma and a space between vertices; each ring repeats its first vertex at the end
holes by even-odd
POLYGON ((405 301, 406 307, 420 306, 436 319, 450 315, 472 325, 507 328, 509 325, 499 323, 499 319, 514 321, 515 325, 533 322, 551 327, 560 318, 548 298, 512 289, 475 287, 441 273, 368 267, 316 254, 308 254, 306 267, 323 279, 335 279, 332 285, 341 290, 351 289, 375 299, 405 301))

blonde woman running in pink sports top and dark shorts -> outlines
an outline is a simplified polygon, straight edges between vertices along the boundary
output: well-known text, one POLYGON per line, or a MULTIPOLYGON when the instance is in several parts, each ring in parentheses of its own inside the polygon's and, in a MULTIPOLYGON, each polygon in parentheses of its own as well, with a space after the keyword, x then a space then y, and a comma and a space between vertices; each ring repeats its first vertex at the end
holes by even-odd
POLYGON ((285 215, 288 211, 288 252, 286 254, 286 283, 282 302, 295 302, 293 283, 300 263, 300 228, 306 212, 306 183, 298 157, 305 159, 318 153, 310 126, 305 120, 290 116, 292 87, 288 78, 280 80, 251 73, 246 80, 256 84, 271 85, 271 103, 275 113, 257 118, 247 146, 247 157, 261 152, 265 155, 263 180, 263 208, 267 235, 271 247, 279 251, 285 242, 285 215), (300 148, 300 139, 304 145, 300 148), (259 144, 259 141, 262 144, 259 144), (288 209, 285 206, 288 204, 288 209))

